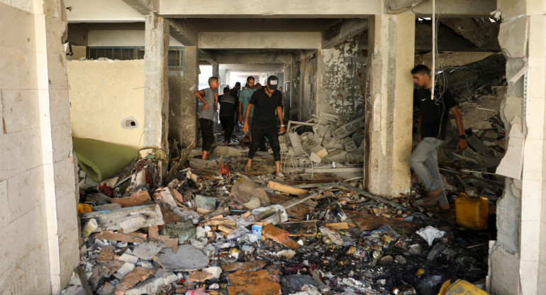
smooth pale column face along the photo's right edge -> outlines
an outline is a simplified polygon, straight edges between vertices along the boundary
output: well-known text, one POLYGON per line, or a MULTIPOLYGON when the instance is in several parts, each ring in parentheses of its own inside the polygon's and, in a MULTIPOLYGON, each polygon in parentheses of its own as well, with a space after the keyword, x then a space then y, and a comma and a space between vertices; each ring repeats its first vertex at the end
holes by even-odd
MULTIPOLYGON (((527 2, 529 5, 534 1, 527 2)), ((527 95, 524 97, 527 134, 523 150, 520 282, 522 294, 541 294, 546 288, 546 15, 528 14, 527 95)))

